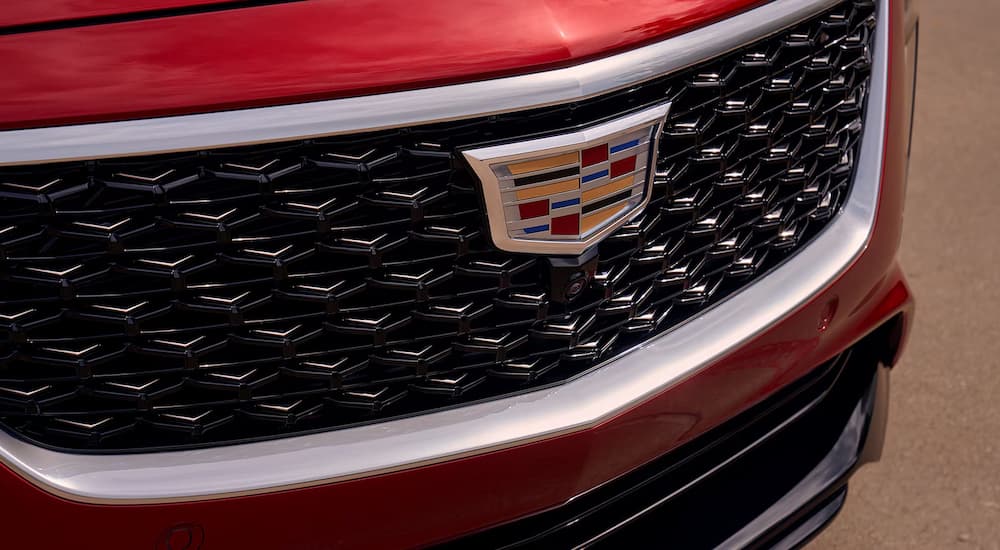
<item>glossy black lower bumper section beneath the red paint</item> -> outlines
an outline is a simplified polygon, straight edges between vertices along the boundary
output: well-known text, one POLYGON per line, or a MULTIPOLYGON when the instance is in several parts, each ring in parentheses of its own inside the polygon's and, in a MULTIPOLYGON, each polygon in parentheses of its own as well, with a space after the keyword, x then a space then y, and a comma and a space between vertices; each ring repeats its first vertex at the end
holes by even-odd
POLYGON ((881 360, 897 322, 681 448, 451 546, 799 546, 839 511, 850 474, 879 458, 890 371, 881 360))

